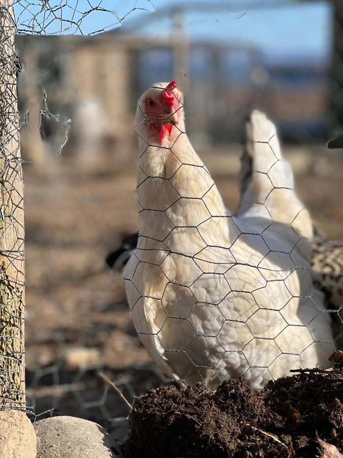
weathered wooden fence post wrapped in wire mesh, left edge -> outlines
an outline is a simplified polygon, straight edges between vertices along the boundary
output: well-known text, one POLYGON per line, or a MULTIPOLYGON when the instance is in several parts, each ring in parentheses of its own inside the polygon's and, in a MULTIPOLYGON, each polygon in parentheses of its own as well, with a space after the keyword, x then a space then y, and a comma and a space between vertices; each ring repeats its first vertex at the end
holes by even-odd
POLYGON ((0 0, 0 410, 25 407, 24 206, 13 0, 0 0))

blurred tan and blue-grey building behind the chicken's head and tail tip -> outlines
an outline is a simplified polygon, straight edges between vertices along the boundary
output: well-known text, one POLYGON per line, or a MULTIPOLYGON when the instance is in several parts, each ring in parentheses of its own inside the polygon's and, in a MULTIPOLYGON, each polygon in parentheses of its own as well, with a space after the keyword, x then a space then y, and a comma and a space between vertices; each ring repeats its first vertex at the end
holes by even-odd
POLYGON ((17 49, 24 67, 20 110, 29 112, 21 132, 26 158, 42 158, 44 149, 53 154, 70 118, 69 155, 88 167, 103 154, 127 160, 135 151, 138 97, 152 83, 174 78, 185 93, 186 127, 195 142, 239 140, 243 119, 255 107, 269 113, 286 139, 326 136, 325 63, 268 62, 253 45, 188 43, 182 34, 172 40, 113 32, 18 36, 17 49), (37 134, 43 92, 49 111, 60 115, 58 128, 47 129, 59 136, 47 135, 44 143, 37 134))

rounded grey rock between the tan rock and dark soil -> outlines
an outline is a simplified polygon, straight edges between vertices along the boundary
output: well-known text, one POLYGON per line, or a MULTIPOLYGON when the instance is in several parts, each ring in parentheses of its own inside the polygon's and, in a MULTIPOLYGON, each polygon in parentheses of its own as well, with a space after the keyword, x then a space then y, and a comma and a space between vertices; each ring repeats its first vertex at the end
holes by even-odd
POLYGON ((34 423, 37 458, 120 458, 111 436, 97 423, 75 417, 52 417, 34 423))

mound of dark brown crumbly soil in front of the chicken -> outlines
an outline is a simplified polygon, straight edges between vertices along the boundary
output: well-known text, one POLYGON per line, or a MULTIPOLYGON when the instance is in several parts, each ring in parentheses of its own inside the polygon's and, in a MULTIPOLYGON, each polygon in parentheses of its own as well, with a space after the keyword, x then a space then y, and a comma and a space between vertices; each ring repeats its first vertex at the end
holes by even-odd
POLYGON ((243 379, 216 392, 199 383, 153 389, 137 400, 130 426, 122 447, 130 458, 343 457, 343 366, 257 391, 243 379))

